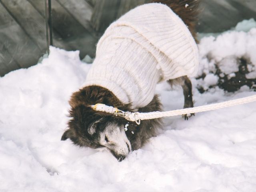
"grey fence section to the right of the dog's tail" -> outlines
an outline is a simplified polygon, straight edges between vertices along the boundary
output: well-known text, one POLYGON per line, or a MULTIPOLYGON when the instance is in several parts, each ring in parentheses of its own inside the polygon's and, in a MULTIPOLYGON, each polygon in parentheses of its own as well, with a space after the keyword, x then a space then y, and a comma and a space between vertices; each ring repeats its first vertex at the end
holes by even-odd
POLYGON ((198 32, 223 32, 244 19, 256 18, 255 0, 202 0, 198 32))

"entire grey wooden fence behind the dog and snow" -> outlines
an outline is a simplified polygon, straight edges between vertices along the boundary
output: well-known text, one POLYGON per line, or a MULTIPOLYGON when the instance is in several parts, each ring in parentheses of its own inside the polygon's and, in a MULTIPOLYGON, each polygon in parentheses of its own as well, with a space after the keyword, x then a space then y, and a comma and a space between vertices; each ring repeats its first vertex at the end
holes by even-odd
MULTIPOLYGON (((199 32, 221 32, 256 18, 256 0, 201 0, 199 32)), ((94 57, 96 42, 122 14, 149 0, 51 0, 54 46, 94 57)), ((0 76, 46 52, 44 0, 0 0, 0 76)))

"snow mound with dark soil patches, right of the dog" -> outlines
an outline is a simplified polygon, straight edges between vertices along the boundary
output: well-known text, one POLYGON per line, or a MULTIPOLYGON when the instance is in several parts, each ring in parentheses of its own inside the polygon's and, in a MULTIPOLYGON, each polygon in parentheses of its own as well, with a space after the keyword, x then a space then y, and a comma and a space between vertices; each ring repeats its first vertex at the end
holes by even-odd
POLYGON ((254 19, 244 20, 233 30, 222 34, 204 37, 198 47, 200 66, 197 79, 202 78, 202 80, 198 81, 197 87, 201 92, 214 86, 229 92, 239 90, 245 85, 256 90, 254 19), (210 84, 207 83, 209 80, 210 84))

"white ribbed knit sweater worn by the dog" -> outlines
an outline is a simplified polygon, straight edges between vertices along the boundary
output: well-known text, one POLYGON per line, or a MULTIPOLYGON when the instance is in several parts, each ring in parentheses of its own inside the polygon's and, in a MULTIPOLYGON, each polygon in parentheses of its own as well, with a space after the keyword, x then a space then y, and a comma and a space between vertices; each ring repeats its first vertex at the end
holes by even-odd
POLYGON ((150 103, 160 80, 195 76, 197 69, 198 48, 187 26, 168 6, 151 3, 107 28, 84 86, 102 86, 139 108, 150 103))

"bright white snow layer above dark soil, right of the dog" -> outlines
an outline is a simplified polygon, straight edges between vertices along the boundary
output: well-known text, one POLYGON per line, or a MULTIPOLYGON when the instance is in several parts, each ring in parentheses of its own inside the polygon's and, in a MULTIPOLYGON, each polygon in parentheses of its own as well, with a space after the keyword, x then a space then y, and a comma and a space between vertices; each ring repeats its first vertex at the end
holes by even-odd
MULTIPOLYGON (((230 73, 230 67, 235 65, 234 58, 248 58, 256 66, 256 28, 252 28, 249 32, 229 31, 216 38, 213 36, 202 38, 199 49, 202 58, 207 56, 215 63, 220 63, 226 74, 230 73), (229 61, 230 65, 226 66, 229 61)), ((207 70, 209 67, 202 65, 201 73, 204 72, 204 68, 207 70)), ((234 70, 236 71, 237 68, 234 67, 234 70)))

